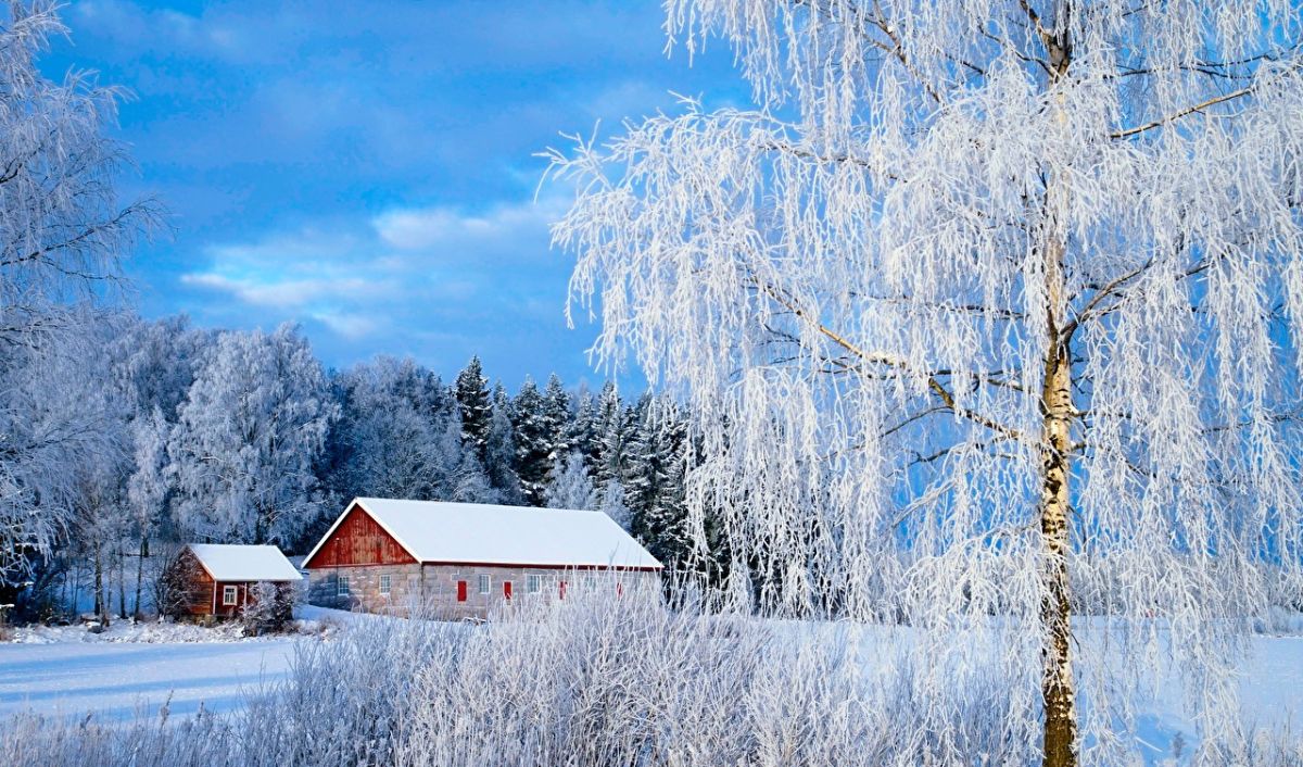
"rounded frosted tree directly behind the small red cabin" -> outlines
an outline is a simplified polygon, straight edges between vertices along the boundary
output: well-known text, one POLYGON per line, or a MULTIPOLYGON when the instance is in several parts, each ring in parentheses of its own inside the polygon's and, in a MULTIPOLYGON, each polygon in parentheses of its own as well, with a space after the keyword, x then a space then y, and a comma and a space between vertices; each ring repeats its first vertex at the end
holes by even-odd
POLYGON ((223 333, 168 442, 179 527, 294 545, 319 513, 314 464, 336 415, 297 327, 223 333))

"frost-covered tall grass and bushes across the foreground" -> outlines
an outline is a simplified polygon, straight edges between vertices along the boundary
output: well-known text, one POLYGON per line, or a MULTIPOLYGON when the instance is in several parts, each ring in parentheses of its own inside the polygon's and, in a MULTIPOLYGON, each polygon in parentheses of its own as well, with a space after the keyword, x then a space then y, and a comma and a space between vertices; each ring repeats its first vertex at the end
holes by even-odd
MULTIPOLYGON (((125 725, 22 716, 0 725, 0 763, 1038 762, 1040 744, 1023 721, 1029 703, 1010 694, 1001 667, 975 661, 924 673, 932 669, 920 668, 929 659, 915 631, 761 620, 691 596, 668 609, 654 595, 517 600, 482 626, 365 620, 335 640, 304 643, 288 681, 231 715, 164 715, 165 727, 150 716, 125 725), (937 686, 938 677, 950 682, 937 686)), ((1199 747, 1186 744, 1182 753, 1188 759, 1199 747)), ((1259 730, 1209 755, 1283 767, 1299 763, 1303 741, 1259 730)), ((1083 757, 1124 764, 1139 754, 1088 749, 1083 757)))

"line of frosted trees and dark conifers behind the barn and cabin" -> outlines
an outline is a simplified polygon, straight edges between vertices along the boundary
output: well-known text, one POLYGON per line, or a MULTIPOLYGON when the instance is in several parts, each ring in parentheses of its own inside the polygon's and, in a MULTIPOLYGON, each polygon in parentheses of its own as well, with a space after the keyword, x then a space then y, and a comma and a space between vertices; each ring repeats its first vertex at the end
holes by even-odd
POLYGON ((689 554, 684 414, 515 391, 480 360, 328 370, 293 325, 207 330, 81 309, 0 364, 0 603, 149 612, 189 541, 306 552, 357 496, 599 510, 667 565, 689 554))

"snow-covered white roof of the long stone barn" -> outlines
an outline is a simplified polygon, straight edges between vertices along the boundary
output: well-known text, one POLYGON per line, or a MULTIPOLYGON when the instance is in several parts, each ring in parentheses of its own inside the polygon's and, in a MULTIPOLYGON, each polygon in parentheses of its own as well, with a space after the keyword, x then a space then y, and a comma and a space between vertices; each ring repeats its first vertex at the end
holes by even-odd
POLYGON ((418 562, 662 567, 602 511, 392 498, 354 498, 304 560, 305 565, 354 507, 366 511, 418 562))

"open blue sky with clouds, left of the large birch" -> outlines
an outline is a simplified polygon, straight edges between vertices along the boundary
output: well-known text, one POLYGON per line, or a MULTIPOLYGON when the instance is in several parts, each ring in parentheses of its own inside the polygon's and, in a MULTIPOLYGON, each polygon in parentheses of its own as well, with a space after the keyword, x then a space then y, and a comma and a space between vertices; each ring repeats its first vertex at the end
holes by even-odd
MULTIPOLYGON (((410 355, 451 378, 478 353, 508 387, 595 384, 597 327, 566 325, 572 256, 539 188, 562 133, 747 100, 722 42, 666 52, 652 0, 72 1, 42 60, 124 86, 113 134, 169 231, 126 261, 146 317, 297 321, 344 368, 410 355)), ((619 374, 637 386, 637 370, 619 374)))

